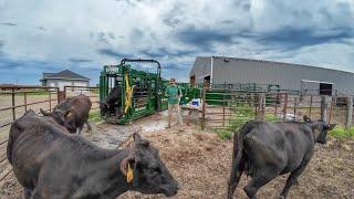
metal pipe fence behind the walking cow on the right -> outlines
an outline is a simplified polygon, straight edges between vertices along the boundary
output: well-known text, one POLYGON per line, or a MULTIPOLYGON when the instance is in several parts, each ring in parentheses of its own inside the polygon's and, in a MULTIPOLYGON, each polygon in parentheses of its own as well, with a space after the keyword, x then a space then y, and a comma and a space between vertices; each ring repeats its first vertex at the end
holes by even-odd
POLYGON ((201 128, 232 129, 254 118, 302 121, 303 115, 346 128, 354 122, 352 96, 205 87, 202 102, 201 128))

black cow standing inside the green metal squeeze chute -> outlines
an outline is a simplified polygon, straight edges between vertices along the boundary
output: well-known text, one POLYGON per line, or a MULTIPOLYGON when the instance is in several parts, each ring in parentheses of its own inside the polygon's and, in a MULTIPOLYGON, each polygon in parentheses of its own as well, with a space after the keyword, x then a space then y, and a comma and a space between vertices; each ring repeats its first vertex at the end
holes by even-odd
POLYGON ((122 86, 115 86, 111 90, 108 96, 100 103, 101 116, 104 117, 107 113, 115 114, 118 118, 123 115, 119 106, 115 107, 115 104, 122 103, 122 86))

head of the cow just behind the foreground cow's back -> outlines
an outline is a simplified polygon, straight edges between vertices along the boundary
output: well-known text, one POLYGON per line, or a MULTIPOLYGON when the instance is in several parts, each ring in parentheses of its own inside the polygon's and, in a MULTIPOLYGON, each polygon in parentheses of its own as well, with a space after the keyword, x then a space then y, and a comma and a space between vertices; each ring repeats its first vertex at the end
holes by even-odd
POLYGON ((42 108, 40 109, 40 112, 44 115, 44 116, 50 116, 53 117, 58 124, 65 126, 65 128, 74 134, 76 133, 76 126, 75 126, 75 111, 74 108, 70 108, 66 111, 61 111, 58 108, 54 108, 52 113, 48 113, 45 111, 43 111, 42 108))

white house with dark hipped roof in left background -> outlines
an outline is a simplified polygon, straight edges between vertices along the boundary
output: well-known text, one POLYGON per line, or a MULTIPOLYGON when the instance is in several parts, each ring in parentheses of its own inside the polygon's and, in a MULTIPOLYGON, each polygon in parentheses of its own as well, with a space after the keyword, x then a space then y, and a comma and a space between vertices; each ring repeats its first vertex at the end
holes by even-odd
POLYGON ((40 80, 43 86, 59 87, 60 91, 64 86, 88 86, 90 78, 72 71, 65 70, 59 73, 43 73, 40 80))

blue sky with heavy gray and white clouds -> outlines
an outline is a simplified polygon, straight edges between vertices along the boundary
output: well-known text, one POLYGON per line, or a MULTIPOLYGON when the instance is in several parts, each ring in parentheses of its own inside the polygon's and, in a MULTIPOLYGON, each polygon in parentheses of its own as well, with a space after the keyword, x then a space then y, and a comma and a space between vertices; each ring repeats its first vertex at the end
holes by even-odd
POLYGON ((0 83, 155 59, 187 81, 198 55, 354 72, 353 0, 0 0, 0 83))

